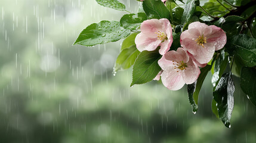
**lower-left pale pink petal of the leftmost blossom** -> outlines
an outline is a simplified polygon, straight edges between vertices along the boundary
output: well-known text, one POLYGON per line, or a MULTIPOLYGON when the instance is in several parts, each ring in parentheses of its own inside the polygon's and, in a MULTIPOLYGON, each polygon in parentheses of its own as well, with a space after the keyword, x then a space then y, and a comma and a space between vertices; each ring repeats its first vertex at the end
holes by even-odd
POLYGON ((135 38, 135 44, 140 52, 144 50, 154 51, 156 48, 158 48, 160 43, 161 41, 157 38, 147 37, 147 35, 144 35, 144 33, 138 34, 135 38))

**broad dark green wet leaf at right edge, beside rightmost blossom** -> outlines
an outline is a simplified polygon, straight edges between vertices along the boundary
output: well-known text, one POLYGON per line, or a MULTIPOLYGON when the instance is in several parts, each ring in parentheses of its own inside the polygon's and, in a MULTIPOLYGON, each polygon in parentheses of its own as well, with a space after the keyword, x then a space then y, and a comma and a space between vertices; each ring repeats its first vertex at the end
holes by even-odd
POLYGON ((256 66, 256 39, 247 35, 235 35, 226 44, 227 52, 240 58, 247 67, 256 66))

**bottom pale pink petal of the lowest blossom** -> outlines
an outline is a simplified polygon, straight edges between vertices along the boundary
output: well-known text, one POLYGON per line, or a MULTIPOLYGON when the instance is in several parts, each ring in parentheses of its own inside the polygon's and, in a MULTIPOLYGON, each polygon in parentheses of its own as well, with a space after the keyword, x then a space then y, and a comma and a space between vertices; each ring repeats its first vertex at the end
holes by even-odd
POLYGON ((185 84, 183 77, 181 76, 181 72, 177 72, 175 70, 163 71, 161 79, 164 86, 172 91, 181 89, 185 84))

